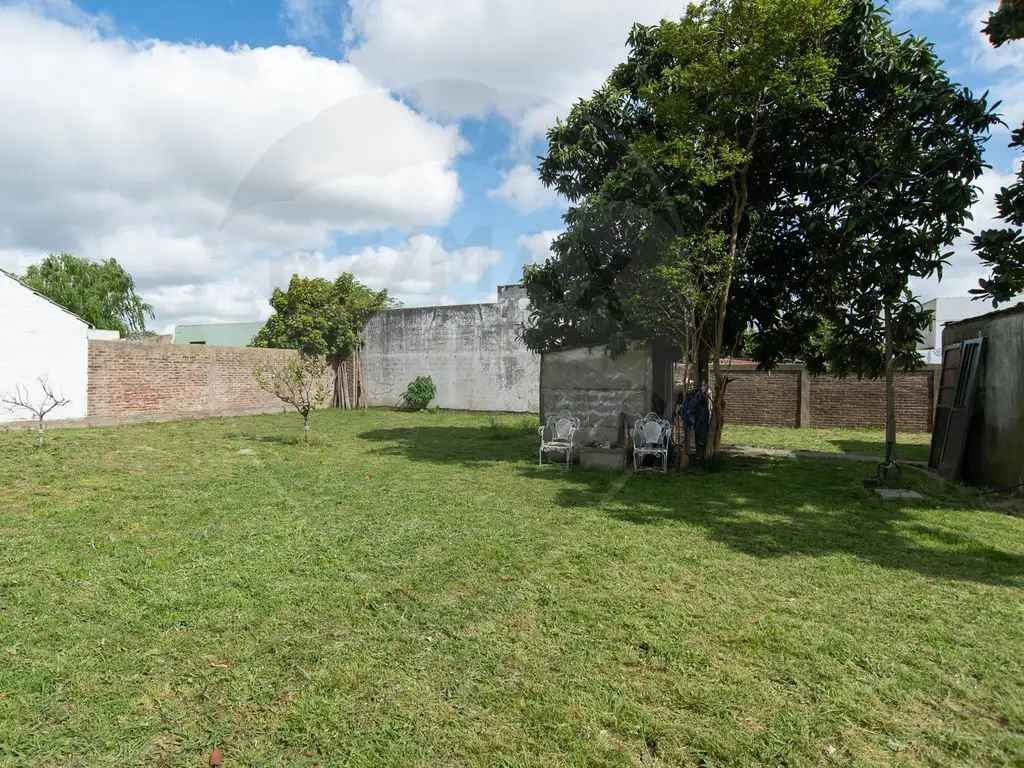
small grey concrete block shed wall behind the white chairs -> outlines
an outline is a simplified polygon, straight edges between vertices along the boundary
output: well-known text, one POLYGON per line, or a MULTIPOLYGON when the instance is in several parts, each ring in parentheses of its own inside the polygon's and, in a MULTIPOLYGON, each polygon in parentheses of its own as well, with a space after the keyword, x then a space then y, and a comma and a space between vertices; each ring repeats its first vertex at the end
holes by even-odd
POLYGON ((620 357, 612 357, 605 347, 548 352, 541 360, 541 421, 569 411, 583 422, 583 442, 615 444, 622 414, 632 427, 650 411, 651 388, 649 349, 620 357))

